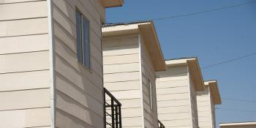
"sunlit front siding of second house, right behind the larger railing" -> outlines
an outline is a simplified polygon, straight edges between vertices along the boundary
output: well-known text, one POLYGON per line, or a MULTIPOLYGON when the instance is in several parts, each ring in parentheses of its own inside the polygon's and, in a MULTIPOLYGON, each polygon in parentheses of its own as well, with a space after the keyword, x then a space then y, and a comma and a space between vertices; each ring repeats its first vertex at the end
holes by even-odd
POLYGON ((138 35, 103 37, 104 86, 121 102, 122 126, 142 127, 138 35))

